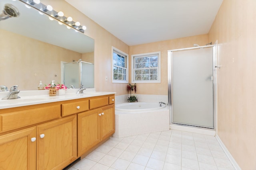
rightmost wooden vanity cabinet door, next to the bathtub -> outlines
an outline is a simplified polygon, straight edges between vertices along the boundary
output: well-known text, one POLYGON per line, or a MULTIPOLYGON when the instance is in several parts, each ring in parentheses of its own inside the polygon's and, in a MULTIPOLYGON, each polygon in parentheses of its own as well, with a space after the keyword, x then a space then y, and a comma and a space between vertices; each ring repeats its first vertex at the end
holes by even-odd
POLYGON ((108 138, 115 132, 115 105, 102 107, 100 116, 100 140, 108 138))

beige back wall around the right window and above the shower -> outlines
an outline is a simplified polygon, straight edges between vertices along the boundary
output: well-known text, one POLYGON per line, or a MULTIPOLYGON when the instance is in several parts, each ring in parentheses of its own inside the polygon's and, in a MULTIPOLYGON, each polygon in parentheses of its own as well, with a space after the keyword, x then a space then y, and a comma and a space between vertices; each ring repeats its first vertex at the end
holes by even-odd
MULTIPOLYGON (((155 43, 130 46, 129 55, 161 51, 161 83, 137 83, 138 94, 168 95, 168 50, 193 47, 193 44, 206 45, 208 35, 197 35, 155 43)), ((131 57, 129 58, 131 63, 131 57)), ((130 68, 131 70, 131 64, 130 68)), ((131 74, 129 74, 131 82, 131 74)))

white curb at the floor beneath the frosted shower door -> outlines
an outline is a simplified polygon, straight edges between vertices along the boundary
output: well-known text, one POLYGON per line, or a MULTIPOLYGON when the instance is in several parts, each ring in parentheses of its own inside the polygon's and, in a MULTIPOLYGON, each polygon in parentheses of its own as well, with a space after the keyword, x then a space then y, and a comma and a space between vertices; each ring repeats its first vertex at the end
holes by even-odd
POLYGON ((170 129, 179 130, 179 131, 187 131, 192 133, 199 133, 203 135, 215 136, 216 132, 214 130, 200 129, 196 127, 186 127, 181 125, 170 125, 170 129))

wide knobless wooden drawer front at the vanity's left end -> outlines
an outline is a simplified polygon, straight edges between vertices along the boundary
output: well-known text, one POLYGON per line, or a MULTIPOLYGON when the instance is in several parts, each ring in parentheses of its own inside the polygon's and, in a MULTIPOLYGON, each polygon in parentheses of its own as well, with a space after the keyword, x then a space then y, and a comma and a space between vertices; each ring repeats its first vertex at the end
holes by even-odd
POLYGON ((60 105, 4 113, 0 115, 1 131, 9 131, 58 117, 60 117, 60 105))

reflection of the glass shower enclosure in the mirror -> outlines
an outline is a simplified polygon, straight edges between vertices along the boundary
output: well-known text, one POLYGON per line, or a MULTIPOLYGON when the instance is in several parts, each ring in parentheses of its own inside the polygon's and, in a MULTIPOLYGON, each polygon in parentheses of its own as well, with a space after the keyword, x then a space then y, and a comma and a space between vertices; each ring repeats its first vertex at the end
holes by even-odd
POLYGON ((94 88, 94 64, 84 61, 64 63, 64 84, 80 88, 94 88))

